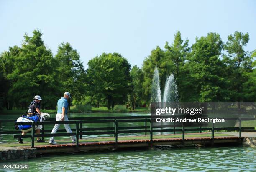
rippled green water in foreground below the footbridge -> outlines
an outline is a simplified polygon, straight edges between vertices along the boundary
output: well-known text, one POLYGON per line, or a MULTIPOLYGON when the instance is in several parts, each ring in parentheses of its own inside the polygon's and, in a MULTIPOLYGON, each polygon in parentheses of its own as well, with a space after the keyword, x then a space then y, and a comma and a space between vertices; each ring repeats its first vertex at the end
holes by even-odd
POLYGON ((13 161, 12 163, 28 164, 28 169, 20 171, 29 172, 255 172, 255 157, 256 148, 245 146, 154 147, 154 150, 122 150, 42 155, 31 160, 13 161))

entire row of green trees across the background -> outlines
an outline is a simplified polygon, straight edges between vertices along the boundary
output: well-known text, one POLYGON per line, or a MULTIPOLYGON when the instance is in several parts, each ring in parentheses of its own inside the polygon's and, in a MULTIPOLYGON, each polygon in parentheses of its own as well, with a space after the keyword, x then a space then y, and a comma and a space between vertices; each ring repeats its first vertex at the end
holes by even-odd
MULTIPOLYGON (((55 109, 63 92, 72 94, 73 105, 94 107, 125 104, 135 109, 149 105, 154 68, 158 67, 164 88, 171 73, 181 102, 255 102, 256 50, 244 48, 248 33, 235 32, 223 42, 218 33, 197 37, 190 47, 181 33, 166 42, 164 50, 153 49, 142 67, 118 53, 102 53, 85 69, 80 55, 68 42, 56 55, 44 45, 42 32, 24 35, 21 47, 0 54, 0 108, 26 108, 34 95, 43 97, 42 108, 55 109)), ((69 103, 70 104, 70 103, 69 103)))

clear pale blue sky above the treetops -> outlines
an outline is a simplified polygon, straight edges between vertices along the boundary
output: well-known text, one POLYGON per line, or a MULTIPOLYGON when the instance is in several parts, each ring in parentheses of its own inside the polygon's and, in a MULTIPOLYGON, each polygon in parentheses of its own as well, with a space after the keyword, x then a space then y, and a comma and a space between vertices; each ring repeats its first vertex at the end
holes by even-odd
POLYGON ((236 30, 248 32, 246 50, 256 49, 255 0, 0 0, 0 52, 20 46, 35 28, 54 55, 69 42, 84 66, 102 52, 118 52, 141 67, 157 45, 174 33, 195 37, 217 32, 223 41, 236 30))

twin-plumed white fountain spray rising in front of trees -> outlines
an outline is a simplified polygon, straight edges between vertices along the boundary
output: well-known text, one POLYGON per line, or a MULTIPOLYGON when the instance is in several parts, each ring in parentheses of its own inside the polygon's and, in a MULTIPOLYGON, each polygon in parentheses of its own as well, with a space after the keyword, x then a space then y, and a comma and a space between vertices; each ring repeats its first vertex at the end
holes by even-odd
POLYGON ((155 67, 152 80, 151 102, 179 102, 177 85, 173 74, 167 76, 166 78, 164 95, 163 99, 161 99, 159 71, 158 68, 155 67))

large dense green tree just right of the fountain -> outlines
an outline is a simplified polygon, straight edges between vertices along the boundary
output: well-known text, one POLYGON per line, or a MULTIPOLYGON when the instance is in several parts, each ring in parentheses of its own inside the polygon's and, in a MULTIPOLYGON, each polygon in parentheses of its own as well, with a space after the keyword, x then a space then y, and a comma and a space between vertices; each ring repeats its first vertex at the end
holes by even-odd
POLYGON ((196 38, 184 65, 184 71, 189 73, 184 77, 186 83, 182 89, 187 92, 184 100, 217 102, 227 99, 225 65, 219 57, 222 48, 223 42, 216 33, 196 38))

